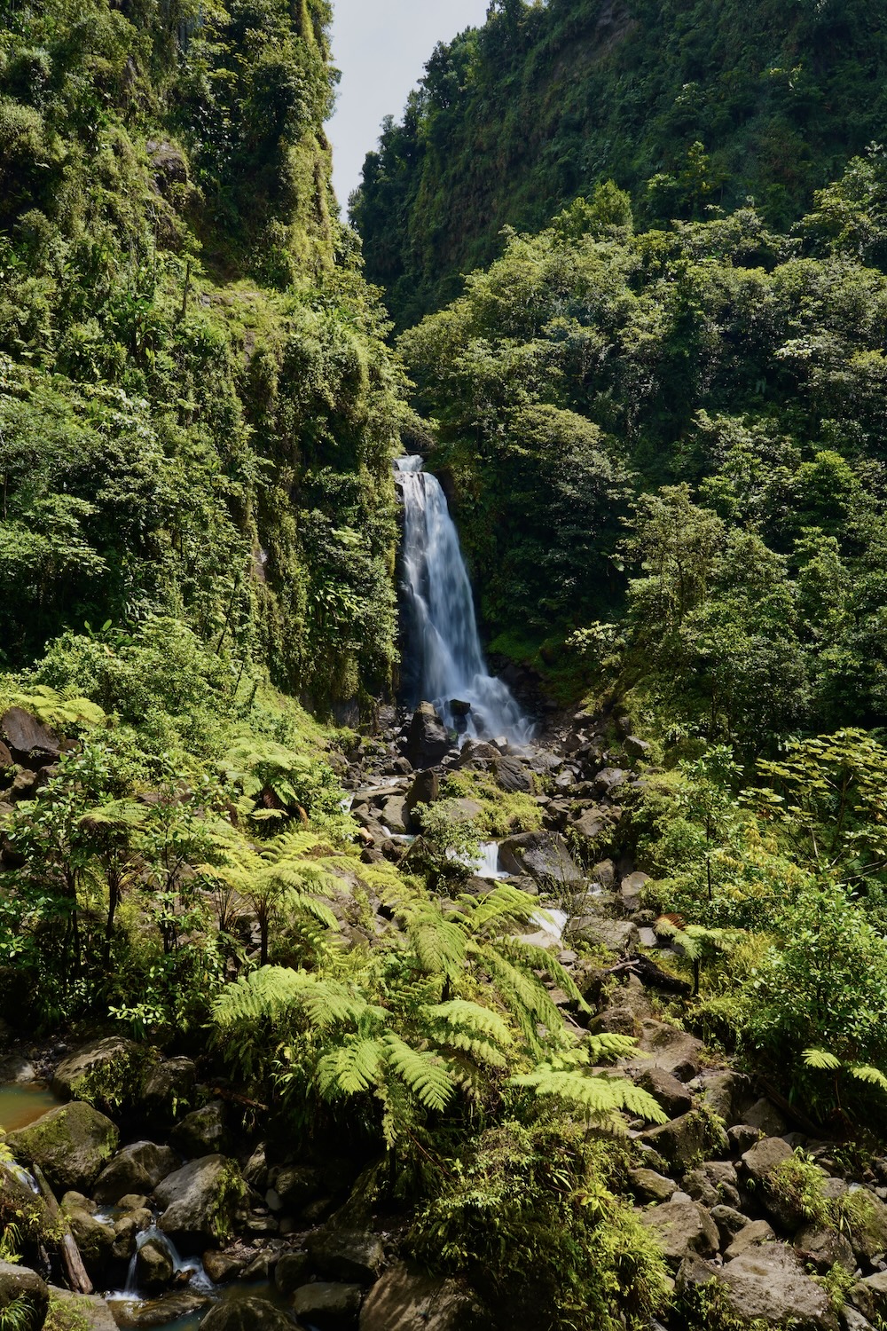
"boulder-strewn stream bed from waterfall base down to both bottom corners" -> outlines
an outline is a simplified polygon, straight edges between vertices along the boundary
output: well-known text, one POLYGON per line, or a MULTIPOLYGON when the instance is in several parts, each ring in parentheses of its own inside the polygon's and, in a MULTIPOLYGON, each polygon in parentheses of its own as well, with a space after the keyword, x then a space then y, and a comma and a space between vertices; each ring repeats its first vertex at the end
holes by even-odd
MULTIPOLYGON (((29 797, 52 759, 43 753, 36 765, 35 752, 23 768, 33 780, 19 781, 13 800, 29 797)), ((806 1137, 787 1106, 654 1014, 652 997, 669 976, 656 962, 653 916, 641 901, 646 880, 632 858, 625 813, 645 757, 644 741, 618 719, 608 717, 605 731, 604 719, 582 712, 548 713, 525 751, 495 737, 459 748, 422 704, 412 716, 383 712, 378 733, 342 760, 339 776, 368 862, 408 853, 411 811, 439 799, 453 772, 483 775, 539 807, 540 827, 489 843, 467 888, 483 893, 491 876, 504 876, 539 898, 533 941, 555 950, 592 1008, 589 1018, 549 981, 564 1022, 580 1036, 590 1026, 637 1038, 622 1071, 669 1121, 632 1125, 626 1189, 676 1288, 717 1282, 738 1326, 762 1319, 864 1331, 887 1316, 887 1161, 847 1177, 834 1143, 806 1137), (822 1183, 827 1219, 822 1209, 811 1219, 803 1197, 777 1183, 798 1146, 822 1183), (835 1268, 846 1271, 840 1311, 818 1279, 835 1268)), ((456 805, 465 819, 481 811, 468 796, 456 805)), ((378 926, 390 926, 382 908, 378 926)), ((670 982, 682 989, 673 976, 670 982)), ((44 1326, 51 1298, 47 1324, 60 1331, 499 1324, 463 1280, 404 1259, 404 1217, 367 1199, 375 1161, 331 1143, 305 1149, 263 1127, 261 1113, 246 1131, 243 1097, 219 1081, 209 1055, 164 1055, 117 1036, 68 1047, 3 1034, 0 1126, 13 1157, 0 1161, 5 1214, 20 1214, 27 1226, 28 1218, 49 1219, 57 1201, 55 1233, 69 1231, 81 1288, 90 1291, 66 1287, 72 1271, 55 1247, 41 1247, 35 1268, 0 1263, 0 1311, 21 1292, 31 1296, 25 1331, 44 1326), (94 1086, 102 1066, 121 1059, 132 1067, 125 1109, 102 1111, 77 1098, 85 1078, 94 1086)))

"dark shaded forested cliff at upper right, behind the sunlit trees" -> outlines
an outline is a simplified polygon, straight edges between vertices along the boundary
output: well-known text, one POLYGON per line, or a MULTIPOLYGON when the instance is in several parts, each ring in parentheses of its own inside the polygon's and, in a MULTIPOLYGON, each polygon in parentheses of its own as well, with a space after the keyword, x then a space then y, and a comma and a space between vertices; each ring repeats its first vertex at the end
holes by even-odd
POLYGON ((439 45, 352 205, 367 276, 407 326, 613 178, 644 221, 754 196, 786 225, 880 136, 872 0, 497 0, 439 45))

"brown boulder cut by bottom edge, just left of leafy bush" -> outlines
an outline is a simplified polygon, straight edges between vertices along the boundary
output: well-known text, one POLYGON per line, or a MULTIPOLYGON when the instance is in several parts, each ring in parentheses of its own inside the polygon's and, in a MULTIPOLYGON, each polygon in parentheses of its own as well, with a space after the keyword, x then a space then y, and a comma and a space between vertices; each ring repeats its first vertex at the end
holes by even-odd
POLYGON ((360 1331, 488 1331, 492 1318, 461 1280, 398 1262, 367 1294, 360 1331))

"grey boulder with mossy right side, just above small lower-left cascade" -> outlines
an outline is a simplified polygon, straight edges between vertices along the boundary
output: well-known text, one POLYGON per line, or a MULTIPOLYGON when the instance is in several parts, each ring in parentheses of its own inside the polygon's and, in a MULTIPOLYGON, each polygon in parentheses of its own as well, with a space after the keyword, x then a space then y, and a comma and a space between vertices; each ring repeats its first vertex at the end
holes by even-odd
POLYGON ((203 1155, 169 1174, 154 1189, 162 1207, 158 1225, 174 1240, 210 1246, 230 1233, 243 1195, 245 1183, 234 1161, 203 1155))

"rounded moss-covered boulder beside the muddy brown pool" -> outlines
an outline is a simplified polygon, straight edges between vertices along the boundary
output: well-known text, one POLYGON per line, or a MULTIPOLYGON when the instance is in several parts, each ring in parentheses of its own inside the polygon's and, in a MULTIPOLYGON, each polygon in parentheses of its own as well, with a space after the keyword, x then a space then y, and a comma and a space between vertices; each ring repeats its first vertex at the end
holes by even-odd
POLYGON ((85 1191, 117 1150, 120 1133, 90 1105, 73 1103, 51 1109, 7 1142, 16 1159, 39 1165, 53 1187, 85 1191))

